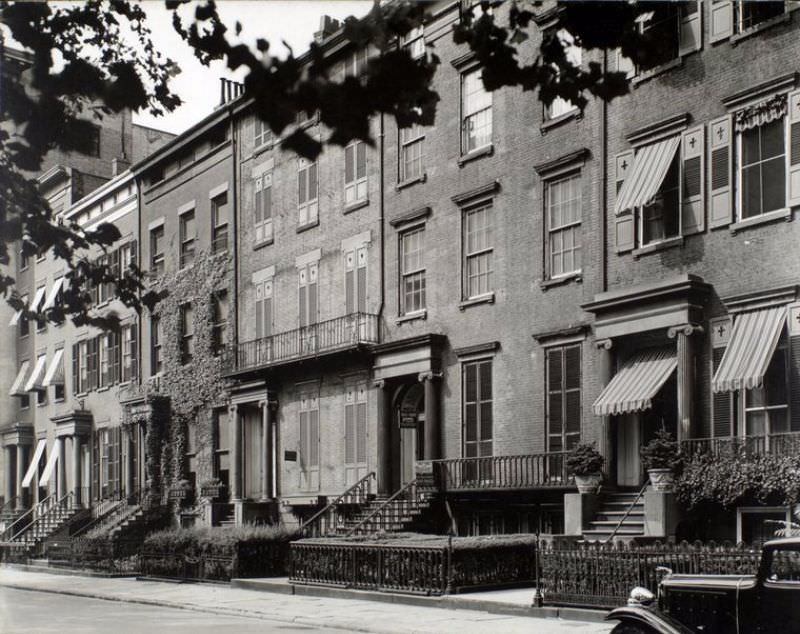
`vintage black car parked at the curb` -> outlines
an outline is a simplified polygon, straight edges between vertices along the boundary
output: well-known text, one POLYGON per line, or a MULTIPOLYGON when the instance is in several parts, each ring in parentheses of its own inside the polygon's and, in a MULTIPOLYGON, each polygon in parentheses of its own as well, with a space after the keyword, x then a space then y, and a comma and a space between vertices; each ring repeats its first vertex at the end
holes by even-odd
POLYGON ((634 588, 612 634, 800 633, 800 537, 764 544, 756 575, 672 574, 658 599, 634 588))

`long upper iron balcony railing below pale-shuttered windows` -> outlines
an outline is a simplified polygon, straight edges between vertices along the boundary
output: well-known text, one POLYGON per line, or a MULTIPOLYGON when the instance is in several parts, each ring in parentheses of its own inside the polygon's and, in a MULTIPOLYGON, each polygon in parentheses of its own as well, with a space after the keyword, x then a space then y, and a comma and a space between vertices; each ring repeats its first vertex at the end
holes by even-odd
POLYGON ((378 316, 351 313, 225 349, 226 372, 297 361, 379 342, 378 316))

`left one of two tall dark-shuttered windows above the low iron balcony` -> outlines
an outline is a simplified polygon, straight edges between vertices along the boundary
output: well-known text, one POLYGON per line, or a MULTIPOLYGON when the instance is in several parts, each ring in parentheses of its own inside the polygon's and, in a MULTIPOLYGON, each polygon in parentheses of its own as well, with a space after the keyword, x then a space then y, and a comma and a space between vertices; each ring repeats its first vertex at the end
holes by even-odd
POLYGON ((464 457, 492 455, 492 360, 470 361, 461 367, 463 387, 464 457))

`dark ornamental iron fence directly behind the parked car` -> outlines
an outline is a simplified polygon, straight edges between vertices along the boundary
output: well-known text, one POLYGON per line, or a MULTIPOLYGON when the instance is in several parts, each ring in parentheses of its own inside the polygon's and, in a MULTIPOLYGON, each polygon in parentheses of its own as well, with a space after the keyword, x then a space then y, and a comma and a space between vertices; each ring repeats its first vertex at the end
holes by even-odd
POLYGON ((573 544, 540 542, 537 586, 548 604, 612 608, 635 586, 655 591, 661 566, 686 574, 755 574, 759 549, 715 544, 573 544))

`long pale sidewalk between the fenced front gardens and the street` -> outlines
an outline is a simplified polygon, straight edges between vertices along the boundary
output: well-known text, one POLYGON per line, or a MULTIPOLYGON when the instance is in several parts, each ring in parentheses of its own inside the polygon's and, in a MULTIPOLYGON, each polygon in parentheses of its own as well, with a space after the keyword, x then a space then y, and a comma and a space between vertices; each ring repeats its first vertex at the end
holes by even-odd
MULTIPOLYGON (((412 632, 605 634, 613 625, 533 616, 545 614, 554 617, 557 616, 557 612, 555 610, 537 612, 528 607, 530 590, 430 598, 362 593, 333 588, 295 587, 290 586, 285 580, 240 580, 230 586, 185 584, 137 581, 130 577, 99 579, 51 572, 30 572, 8 566, 0 568, 0 586, 220 615, 248 616, 277 623, 380 634, 412 632), (259 587, 259 583, 262 591, 254 590, 254 587, 259 587), (265 589, 266 592, 263 591, 265 589), (292 589, 298 591, 292 593, 292 589), (416 607, 409 609, 409 604, 416 607)), ((0 600, 2 600, 2 590, 0 590, 0 600)))

